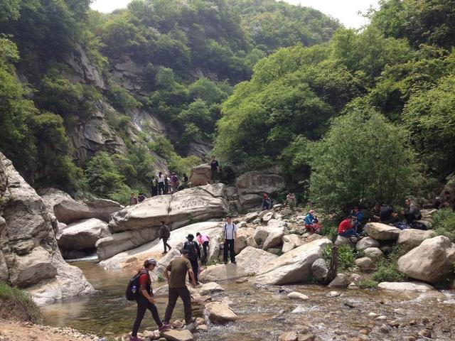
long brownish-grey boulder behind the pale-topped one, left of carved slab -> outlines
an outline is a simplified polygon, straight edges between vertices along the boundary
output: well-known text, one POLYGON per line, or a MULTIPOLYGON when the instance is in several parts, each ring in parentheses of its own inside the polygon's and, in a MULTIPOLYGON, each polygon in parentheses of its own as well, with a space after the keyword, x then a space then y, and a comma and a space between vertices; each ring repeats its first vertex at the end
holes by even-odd
POLYGON ((112 200, 95 200, 90 205, 74 200, 63 200, 54 206, 54 213, 57 220, 64 224, 90 218, 109 222, 111 215, 121 209, 122 206, 112 200))

